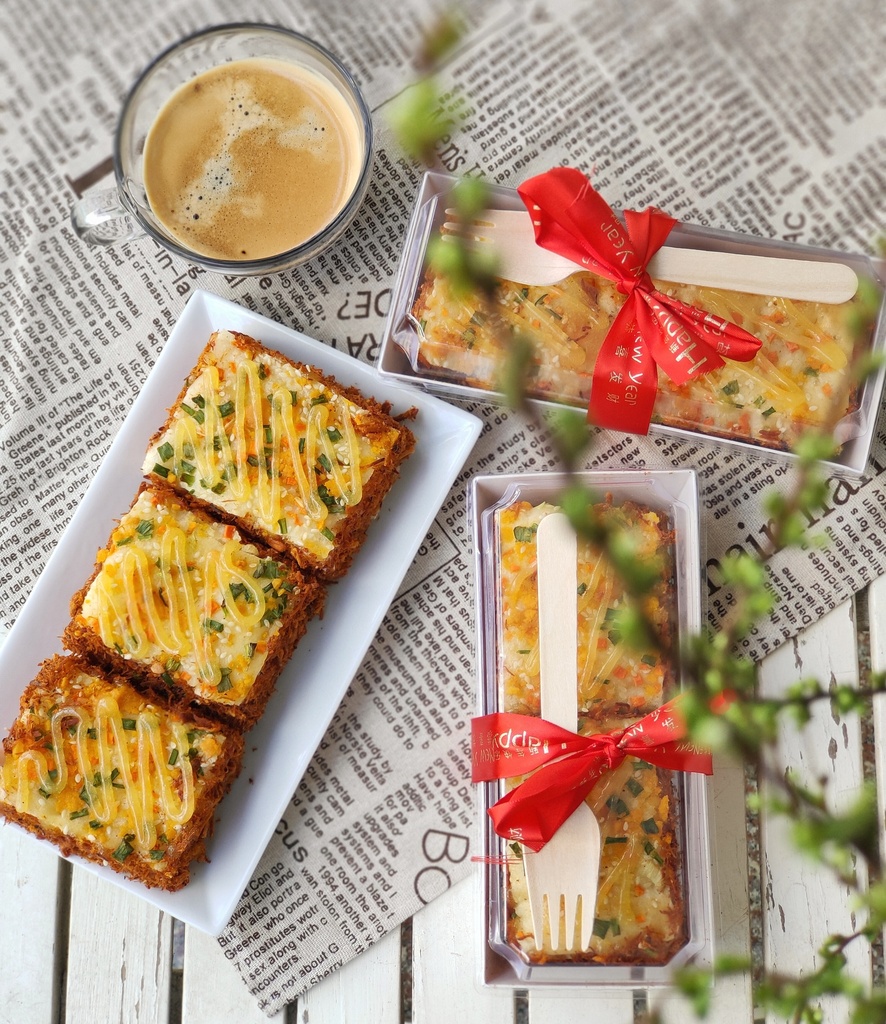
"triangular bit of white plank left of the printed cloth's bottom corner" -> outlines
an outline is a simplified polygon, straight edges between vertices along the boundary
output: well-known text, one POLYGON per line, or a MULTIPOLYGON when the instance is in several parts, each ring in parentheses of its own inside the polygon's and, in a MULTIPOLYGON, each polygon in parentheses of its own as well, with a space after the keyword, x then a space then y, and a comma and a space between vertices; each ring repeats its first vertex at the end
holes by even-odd
POLYGON ((265 1016, 237 968, 225 959, 216 940, 196 928, 188 928, 184 933, 181 1020, 187 1024, 220 1024, 222 1021, 286 1024, 286 1011, 273 1017, 265 1016))

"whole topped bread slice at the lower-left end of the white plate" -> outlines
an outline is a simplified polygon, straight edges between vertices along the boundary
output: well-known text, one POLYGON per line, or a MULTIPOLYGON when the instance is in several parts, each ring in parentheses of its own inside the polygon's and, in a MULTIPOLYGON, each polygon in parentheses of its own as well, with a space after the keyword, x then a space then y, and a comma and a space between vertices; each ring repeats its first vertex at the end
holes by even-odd
POLYGON ((164 710, 123 678, 56 655, 3 740, 0 814, 66 856, 180 889, 191 863, 206 859, 243 746, 236 729, 164 710))

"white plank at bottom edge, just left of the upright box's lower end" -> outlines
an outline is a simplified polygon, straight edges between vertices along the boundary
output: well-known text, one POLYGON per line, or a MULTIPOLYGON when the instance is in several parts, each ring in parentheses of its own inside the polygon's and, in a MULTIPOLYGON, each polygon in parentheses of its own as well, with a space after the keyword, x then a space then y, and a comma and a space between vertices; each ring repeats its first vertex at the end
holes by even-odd
POLYGON ((413 1024, 512 1024, 513 995, 476 982, 475 899, 465 879, 413 919, 413 1024))

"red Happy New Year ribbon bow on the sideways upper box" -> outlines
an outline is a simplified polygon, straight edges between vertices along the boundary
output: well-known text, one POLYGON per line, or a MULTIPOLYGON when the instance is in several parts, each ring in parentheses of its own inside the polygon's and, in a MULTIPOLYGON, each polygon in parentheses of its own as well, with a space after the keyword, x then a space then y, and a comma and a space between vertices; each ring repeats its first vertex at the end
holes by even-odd
POLYGON ((627 301, 603 340, 591 384, 588 419, 599 427, 644 434, 658 390, 658 371, 675 384, 747 361, 760 348, 752 334, 713 313, 656 291, 646 265, 677 221, 649 207, 625 211, 623 225, 581 171, 555 167, 517 191, 536 242, 614 281, 627 301))

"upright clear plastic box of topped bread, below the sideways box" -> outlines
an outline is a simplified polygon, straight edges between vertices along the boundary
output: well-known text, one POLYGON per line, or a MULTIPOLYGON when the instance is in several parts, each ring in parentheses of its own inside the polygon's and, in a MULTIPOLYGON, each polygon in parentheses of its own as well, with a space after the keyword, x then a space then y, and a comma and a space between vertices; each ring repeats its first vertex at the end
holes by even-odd
MULTIPOLYGON (((660 543, 666 568, 655 596, 664 599, 653 616, 676 648, 680 637, 701 626, 695 474, 588 472, 582 480, 607 509, 619 509, 608 514, 640 522, 644 543, 660 543)), ((555 505, 564 482, 560 473, 477 476, 472 481, 479 715, 539 714, 538 680, 531 664, 537 654, 537 609, 532 609, 532 595, 525 590, 535 587, 531 524, 555 505)), ((607 633, 610 625, 600 594, 605 592, 606 600, 617 606, 618 584, 613 589, 593 571, 588 575, 591 553, 581 546, 579 552, 577 578, 591 580, 579 585, 584 595, 578 610, 580 731, 610 732, 672 697, 680 685, 679 668, 664 662, 657 666, 653 656, 628 648, 607 633), (598 607, 600 612, 595 612, 598 607), (590 649, 593 660, 588 658, 590 649)), ((602 835, 600 886, 591 952, 584 955, 535 950, 534 937, 528 934, 532 920, 523 892, 522 853, 493 830, 488 814, 508 785, 499 780, 477 786, 481 984, 655 987, 668 984, 678 965, 710 963, 705 776, 664 771, 629 758, 597 782, 589 802, 602 835), (663 797, 666 805, 661 804, 663 797)))

